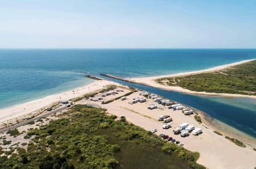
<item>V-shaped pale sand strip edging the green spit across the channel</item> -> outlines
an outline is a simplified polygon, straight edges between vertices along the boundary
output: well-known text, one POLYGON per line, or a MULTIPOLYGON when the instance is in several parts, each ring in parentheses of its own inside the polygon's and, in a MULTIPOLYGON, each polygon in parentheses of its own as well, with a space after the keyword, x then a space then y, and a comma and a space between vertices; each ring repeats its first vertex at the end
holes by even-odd
MULTIPOLYGON (((253 60, 255 60, 255 59, 253 59, 253 60)), ((256 98, 256 96, 249 96, 249 95, 217 94, 217 93, 209 93, 209 92, 204 92, 204 91, 191 91, 191 90, 188 90, 188 89, 184 89, 182 87, 161 85, 161 84, 154 81, 155 79, 159 79, 159 78, 167 78, 167 77, 171 78, 171 77, 178 77, 178 76, 184 76, 184 75, 213 72, 213 71, 225 69, 226 67, 229 67, 229 66, 235 66, 235 65, 250 62, 250 61, 253 61, 253 60, 244 60, 244 61, 240 61, 240 62, 235 62, 235 63, 231 63, 231 64, 216 66, 216 67, 212 67, 210 69, 199 70, 199 71, 184 72, 184 73, 169 74, 169 75, 161 75, 161 76, 157 76, 157 77, 131 78, 131 79, 126 79, 126 80, 133 81, 133 82, 136 82, 136 83, 141 83, 143 85, 147 85, 147 86, 151 86, 151 87, 161 88, 161 89, 165 89, 165 90, 174 90, 174 91, 184 92, 184 93, 188 93, 188 94, 256 98)))

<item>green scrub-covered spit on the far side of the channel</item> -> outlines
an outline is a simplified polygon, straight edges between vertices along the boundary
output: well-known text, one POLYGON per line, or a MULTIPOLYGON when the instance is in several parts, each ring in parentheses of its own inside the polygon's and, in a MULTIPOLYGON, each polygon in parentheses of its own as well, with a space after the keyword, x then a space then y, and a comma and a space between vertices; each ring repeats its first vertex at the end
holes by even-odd
POLYGON ((256 95, 256 60, 219 71, 161 78, 156 82, 193 91, 256 95))

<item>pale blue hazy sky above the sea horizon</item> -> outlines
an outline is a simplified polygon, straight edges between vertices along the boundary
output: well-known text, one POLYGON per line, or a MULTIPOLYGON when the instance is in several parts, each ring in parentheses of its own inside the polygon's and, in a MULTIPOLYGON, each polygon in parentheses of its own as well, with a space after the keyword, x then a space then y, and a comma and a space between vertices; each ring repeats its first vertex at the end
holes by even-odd
POLYGON ((255 0, 0 0, 0 48, 256 48, 255 9, 255 0))

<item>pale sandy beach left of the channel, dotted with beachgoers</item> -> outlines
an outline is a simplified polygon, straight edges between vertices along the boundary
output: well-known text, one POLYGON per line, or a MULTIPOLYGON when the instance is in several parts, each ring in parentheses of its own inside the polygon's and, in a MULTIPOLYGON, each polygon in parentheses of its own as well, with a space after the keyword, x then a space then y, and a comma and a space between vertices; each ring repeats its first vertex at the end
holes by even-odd
MULTIPOLYGON (((59 102, 61 100, 68 100, 74 97, 78 97, 94 90, 98 90, 103 88, 103 86, 117 84, 115 82, 99 80, 90 83, 89 85, 85 85, 82 87, 75 88, 73 90, 69 90, 66 92, 61 92, 60 94, 55 94, 51 96, 47 96, 41 99, 33 100, 31 102, 27 102, 20 105, 15 105, 9 108, 0 110, 0 122, 4 122, 6 120, 15 119, 16 117, 29 114, 30 112, 36 111, 42 107, 47 105, 51 105, 52 103, 59 102)), ((10 123, 10 121, 9 121, 10 123)))

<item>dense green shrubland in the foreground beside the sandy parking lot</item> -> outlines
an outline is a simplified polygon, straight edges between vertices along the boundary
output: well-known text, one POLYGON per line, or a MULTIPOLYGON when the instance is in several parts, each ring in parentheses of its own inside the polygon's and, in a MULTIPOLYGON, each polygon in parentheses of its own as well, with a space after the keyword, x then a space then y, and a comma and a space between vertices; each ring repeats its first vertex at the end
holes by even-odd
POLYGON ((106 109, 75 105, 27 132, 34 136, 27 150, 6 151, 0 168, 205 168, 196 163, 199 153, 116 118, 106 109))

